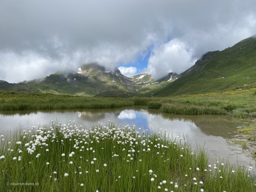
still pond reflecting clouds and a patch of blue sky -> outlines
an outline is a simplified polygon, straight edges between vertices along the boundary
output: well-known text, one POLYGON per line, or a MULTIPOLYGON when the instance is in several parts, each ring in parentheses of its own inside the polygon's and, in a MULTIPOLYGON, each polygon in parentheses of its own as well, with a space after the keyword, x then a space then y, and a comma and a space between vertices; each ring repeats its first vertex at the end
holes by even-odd
POLYGON ((2 111, 0 113, 0 134, 19 129, 31 129, 32 126, 51 123, 51 120, 68 124, 69 120, 85 128, 94 124, 107 124, 113 121, 118 127, 136 125, 141 131, 159 132, 182 136, 192 149, 204 147, 209 154, 210 163, 221 158, 229 159, 230 163, 255 164, 252 157, 247 157, 239 146, 228 145, 227 139, 236 135, 238 126, 250 123, 227 115, 173 115, 162 113, 157 109, 146 107, 118 108, 118 109, 77 109, 58 111, 2 111))

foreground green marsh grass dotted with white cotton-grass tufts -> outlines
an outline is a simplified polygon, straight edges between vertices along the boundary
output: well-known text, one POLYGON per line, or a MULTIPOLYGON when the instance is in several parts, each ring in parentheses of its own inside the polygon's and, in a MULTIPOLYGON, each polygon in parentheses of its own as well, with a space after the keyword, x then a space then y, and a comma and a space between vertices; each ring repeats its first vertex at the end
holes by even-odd
POLYGON ((204 148, 192 152, 161 129, 52 122, 1 142, 0 191, 255 191, 242 166, 223 160, 209 166, 204 148))

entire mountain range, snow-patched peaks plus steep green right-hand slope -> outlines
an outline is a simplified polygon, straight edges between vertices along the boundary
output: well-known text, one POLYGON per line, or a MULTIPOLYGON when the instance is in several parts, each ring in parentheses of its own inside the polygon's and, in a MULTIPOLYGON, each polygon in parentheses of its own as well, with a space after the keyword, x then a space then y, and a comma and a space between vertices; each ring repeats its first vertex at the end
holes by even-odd
POLYGON ((0 90, 100 97, 134 97, 197 94, 253 88, 256 83, 256 35, 223 51, 206 52, 182 74, 161 79, 150 74, 126 77, 116 68, 90 63, 73 72, 56 72, 43 79, 8 83, 0 90))

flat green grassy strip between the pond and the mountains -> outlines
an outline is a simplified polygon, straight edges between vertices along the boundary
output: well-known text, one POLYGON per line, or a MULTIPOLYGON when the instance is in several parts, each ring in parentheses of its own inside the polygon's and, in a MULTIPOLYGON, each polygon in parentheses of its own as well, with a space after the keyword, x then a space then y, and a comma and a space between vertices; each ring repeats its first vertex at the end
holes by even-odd
POLYGON ((256 88, 174 97, 80 97, 50 93, 0 92, 0 111, 99 109, 148 106, 183 115, 256 117, 256 88))

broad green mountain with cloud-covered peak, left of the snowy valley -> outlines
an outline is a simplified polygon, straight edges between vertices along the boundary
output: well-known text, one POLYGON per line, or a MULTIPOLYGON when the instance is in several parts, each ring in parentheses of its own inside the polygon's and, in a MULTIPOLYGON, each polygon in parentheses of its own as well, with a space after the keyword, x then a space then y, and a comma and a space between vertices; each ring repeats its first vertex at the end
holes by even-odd
POLYGON ((44 79, 12 84, 0 82, 0 90, 29 91, 69 95, 96 95, 101 92, 131 90, 132 79, 123 76, 118 69, 110 72, 97 65, 83 65, 76 72, 57 72, 44 79))

